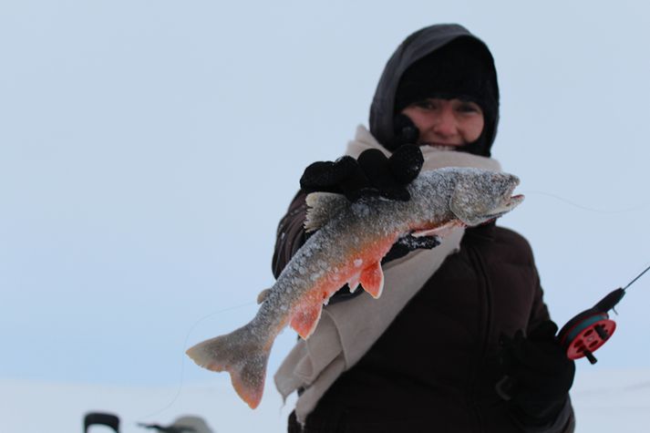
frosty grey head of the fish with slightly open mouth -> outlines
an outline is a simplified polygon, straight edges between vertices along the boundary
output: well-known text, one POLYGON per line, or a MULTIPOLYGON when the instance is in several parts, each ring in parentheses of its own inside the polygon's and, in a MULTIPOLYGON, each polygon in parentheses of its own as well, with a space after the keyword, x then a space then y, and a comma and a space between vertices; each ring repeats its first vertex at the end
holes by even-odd
POLYGON ((519 178, 510 173, 460 170, 449 199, 449 210, 469 226, 494 220, 523 201, 523 195, 512 195, 519 182, 519 178))

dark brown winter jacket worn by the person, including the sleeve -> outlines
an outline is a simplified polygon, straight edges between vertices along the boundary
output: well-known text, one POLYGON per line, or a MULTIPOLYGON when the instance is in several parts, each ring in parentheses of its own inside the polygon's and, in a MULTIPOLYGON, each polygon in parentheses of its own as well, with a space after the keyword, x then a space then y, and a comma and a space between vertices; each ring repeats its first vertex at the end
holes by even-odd
MULTIPOLYGON (((276 276, 304 242, 304 211, 299 193, 278 228, 276 276)), ((495 391, 500 335, 548 318, 528 242, 494 224, 467 229, 459 253, 336 380, 304 431, 571 432, 569 401, 553 426, 524 428, 495 391)))

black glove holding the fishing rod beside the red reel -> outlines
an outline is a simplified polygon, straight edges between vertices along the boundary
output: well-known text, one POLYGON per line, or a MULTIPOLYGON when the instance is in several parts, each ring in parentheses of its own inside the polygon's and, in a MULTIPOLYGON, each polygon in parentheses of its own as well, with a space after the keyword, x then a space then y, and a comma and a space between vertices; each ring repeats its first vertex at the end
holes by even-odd
POLYGON ((543 322, 526 337, 501 335, 500 365, 504 376, 497 391, 526 425, 546 425, 560 413, 573 385, 575 363, 555 338, 558 327, 543 322))

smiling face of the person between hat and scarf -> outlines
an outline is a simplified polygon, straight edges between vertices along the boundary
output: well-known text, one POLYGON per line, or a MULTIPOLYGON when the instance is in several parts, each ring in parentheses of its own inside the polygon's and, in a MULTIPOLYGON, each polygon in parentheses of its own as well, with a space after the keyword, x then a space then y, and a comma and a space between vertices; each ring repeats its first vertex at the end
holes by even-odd
POLYGON ((485 125, 479 105, 458 98, 427 98, 401 113, 418 127, 420 146, 463 146, 479 139, 485 125))

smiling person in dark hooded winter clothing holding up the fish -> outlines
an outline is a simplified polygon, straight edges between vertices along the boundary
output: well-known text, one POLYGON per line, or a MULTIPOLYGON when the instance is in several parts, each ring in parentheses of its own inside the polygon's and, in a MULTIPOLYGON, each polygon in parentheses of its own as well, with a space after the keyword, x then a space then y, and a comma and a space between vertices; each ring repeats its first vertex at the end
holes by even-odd
MULTIPOLYGON (((307 167, 280 222, 277 277, 304 243, 307 193, 408 201, 420 170, 500 170, 490 158, 499 88, 490 50, 458 25, 408 36, 388 60, 346 156, 307 167)), ((572 432, 575 367, 554 335, 531 247, 494 222, 438 245, 405 237, 384 294, 342 288, 275 382, 299 398, 290 432, 572 432)))

